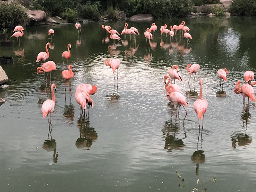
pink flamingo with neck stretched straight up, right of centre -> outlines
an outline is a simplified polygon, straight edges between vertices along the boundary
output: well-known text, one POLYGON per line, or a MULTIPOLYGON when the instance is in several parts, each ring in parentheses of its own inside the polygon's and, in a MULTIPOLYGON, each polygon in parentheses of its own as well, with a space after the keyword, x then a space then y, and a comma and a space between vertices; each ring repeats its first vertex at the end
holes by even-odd
POLYGON ((200 84, 200 95, 199 95, 199 99, 195 100, 195 102, 194 102, 194 110, 195 110, 196 114, 198 114, 198 127, 199 128, 200 128, 199 120, 203 119, 203 123, 202 123, 202 129, 203 129, 204 114, 207 110, 208 102, 206 99, 202 98, 202 86, 203 86, 202 78, 200 78, 199 84, 200 84))

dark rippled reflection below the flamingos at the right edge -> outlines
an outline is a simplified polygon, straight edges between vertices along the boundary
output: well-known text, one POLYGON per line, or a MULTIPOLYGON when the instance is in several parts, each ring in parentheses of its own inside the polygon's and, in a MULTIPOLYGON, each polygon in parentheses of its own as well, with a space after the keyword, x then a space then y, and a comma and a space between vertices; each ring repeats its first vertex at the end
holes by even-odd
POLYGON ((241 119, 243 122, 242 130, 231 134, 232 148, 236 149, 236 142, 238 146, 250 146, 252 143, 252 137, 246 133, 248 121, 251 118, 251 114, 248 111, 241 113, 241 119))

